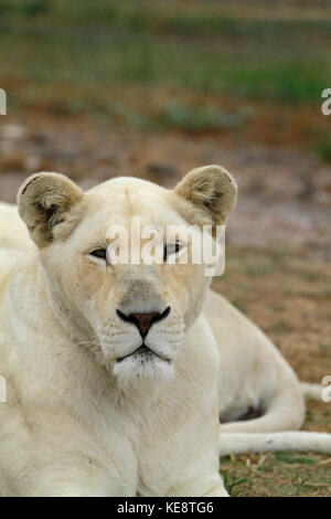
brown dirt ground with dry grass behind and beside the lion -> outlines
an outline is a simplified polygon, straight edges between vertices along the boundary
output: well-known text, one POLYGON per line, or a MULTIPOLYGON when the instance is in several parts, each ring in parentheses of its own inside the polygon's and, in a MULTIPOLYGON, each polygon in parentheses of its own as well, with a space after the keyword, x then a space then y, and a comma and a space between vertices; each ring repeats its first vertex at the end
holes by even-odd
MULTIPOLYGON (((173 187, 190 168, 220 163, 238 182, 226 272, 214 288, 275 341, 298 375, 331 374, 331 171, 295 148, 225 142, 222 136, 135 131, 103 120, 29 114, 0 127, 0 199, 13 202, 34 171, 83 188, 118 174, 173 187)), ((305 430, 331 433, 331 403, 308 402, 305 430)), ((330 496, 330 457, 293 453, 222 459, 233 495, 330 496)))

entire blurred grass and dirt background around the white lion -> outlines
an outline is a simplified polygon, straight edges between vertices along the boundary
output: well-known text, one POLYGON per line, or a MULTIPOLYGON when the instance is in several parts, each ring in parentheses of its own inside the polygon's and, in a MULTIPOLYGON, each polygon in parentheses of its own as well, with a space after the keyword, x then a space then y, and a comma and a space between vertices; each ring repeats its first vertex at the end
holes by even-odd
MULTIPOLYGON (((331 374, 329 0, 0 0, 0 199, 43 170, 89 188, 173 187, 220 163, 239 186, 215 289, 300 378, 331 374)), ((305 428, 331 432, 331 404, 305 428)), ((223 460, 237 495, 330 495, 330 459, 223 460), (328 465, 329 464, 329 465, 328 465), (244 476, 243 476, 244 474, 244 476)))

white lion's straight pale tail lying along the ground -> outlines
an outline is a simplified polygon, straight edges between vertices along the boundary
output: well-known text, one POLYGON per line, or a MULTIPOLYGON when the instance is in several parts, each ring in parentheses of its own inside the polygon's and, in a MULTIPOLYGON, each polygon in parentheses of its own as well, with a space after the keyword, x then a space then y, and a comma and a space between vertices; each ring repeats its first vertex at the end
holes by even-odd
POLYGON ((220 456, 268 451, 331 454, 331 434, 306 431, 278 433, 220 433, 220 456))

